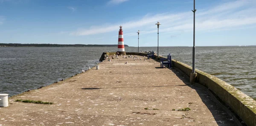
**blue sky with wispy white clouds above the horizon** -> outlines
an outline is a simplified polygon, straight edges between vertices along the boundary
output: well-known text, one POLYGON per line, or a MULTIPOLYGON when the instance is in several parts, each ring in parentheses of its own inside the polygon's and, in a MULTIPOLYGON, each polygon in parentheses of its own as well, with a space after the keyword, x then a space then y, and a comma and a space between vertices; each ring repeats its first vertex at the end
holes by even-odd
MULTIPOLYGON (((256 45, 256 0, 196 0, 196 46, 256 45)), ((0 43, 193 46, 193 0, 0 0, 0 43)))

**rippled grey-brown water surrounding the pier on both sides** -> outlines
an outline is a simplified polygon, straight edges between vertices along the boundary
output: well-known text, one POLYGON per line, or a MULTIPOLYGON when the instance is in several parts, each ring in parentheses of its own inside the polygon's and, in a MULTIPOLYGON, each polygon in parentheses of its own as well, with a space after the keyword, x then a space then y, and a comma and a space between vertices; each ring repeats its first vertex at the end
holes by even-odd
MULTIPOLYGON (((68 78, 99 63, 116 47, 0 47, 0 93, 10 96, 68 78)), ((140 51, 157 47, 140 47, 140 51)), ((137 47, 126 47, 137 52, 137 47)), ((192 47, 159 47, 163 56, 192 66, 192 47)), ((212 74, 256 99, 256 47, 196 47, 196 69, 212 74), (253 62, 253 63, 252 63, 253 62)))

